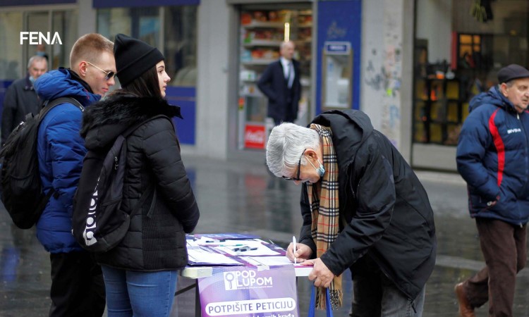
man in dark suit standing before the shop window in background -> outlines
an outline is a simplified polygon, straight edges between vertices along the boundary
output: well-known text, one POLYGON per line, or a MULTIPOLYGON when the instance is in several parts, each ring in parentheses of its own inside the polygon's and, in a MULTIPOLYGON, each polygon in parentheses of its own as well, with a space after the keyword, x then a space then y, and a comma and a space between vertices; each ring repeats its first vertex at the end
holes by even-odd
POLYGON ((293 59, 293 42, 282 42, 281 58, 267 66, 257 87, 268 97, 267 116, 274 124, 293 122, 298 118, 298 103, 301 96, 299 62, 293 59))

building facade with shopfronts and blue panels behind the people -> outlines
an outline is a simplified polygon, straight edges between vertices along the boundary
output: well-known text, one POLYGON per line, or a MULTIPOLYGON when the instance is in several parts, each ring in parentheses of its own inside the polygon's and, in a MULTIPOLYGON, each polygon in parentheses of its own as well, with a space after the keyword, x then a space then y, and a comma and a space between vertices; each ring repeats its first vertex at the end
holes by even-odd
MULTIPOLYGON (((80 35, 138 37, 166 56, 183 151, 262 162, 266 99, 256 87, 296 43, 303 95, 296 123, 355 108, 415 168, 456 170, 468 101, 494 72, 528 66, 529 2, 518 0, 2 0, 0 99, 37 50, 20 32, 58 32, 50 68, 68 66, 80 35)), ((0 103, 1 103, 0 100, 0 103)))

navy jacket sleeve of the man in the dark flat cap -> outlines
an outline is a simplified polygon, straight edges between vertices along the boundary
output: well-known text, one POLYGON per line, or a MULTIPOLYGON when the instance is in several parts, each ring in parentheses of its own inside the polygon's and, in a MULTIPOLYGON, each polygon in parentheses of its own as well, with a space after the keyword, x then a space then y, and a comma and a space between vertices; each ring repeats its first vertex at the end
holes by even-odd
POLYGON ((470 113, 463 123, 457 144, 457 170, 467 184, 475 189, 487 201, 494 201, 499 196, 497 180, 490 176, 483 165, 485 151, 492 143, 488 120, 479 116, 482 109, 470 113))

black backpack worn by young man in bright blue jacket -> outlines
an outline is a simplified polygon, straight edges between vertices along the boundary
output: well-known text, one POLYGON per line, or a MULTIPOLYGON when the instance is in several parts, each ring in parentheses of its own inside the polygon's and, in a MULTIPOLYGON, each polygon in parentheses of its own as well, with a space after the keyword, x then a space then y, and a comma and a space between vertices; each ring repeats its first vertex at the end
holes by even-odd
POLYGON ((29 229, 37 223, 49 197, 55 192, 54 189, 47 193, 42 191, 37 137, 44 116, 55 106, 64 103, 73 104, 84 111, 79 101, 70 97, 46 101, 37 115, 28 113, 25 116, 25 120, 11 132, 0 151, 0 198, 13 223, 20 229, 29 229))

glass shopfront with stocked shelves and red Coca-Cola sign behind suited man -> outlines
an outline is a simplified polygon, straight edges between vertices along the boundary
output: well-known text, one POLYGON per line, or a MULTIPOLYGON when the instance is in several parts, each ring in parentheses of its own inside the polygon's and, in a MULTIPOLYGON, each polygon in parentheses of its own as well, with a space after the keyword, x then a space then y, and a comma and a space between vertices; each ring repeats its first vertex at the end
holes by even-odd
POLYGON ((269 63, 280 57, 286 39, 296 44, 294 58, 300 62, 302 97, 296 123, 306 125, 310 116, 310 63, 312 60, 312 10, 310 4, 243 6, 240 15, 238 148, 264 149, 274 123, 267 118, 267 98, 257 81, 269 63))

